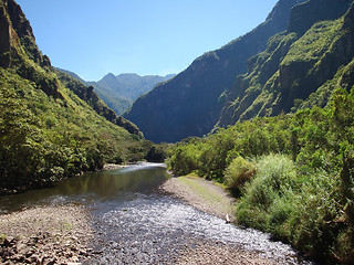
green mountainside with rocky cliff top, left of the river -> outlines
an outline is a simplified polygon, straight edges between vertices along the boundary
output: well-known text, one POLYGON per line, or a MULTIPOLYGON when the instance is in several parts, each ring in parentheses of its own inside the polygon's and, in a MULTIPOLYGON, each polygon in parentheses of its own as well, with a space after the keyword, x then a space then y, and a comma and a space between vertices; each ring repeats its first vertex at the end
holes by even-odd
POLYGON ((134 124, 51 66, 14 0, 0 0, 0 193, 144 157, 134 124))

